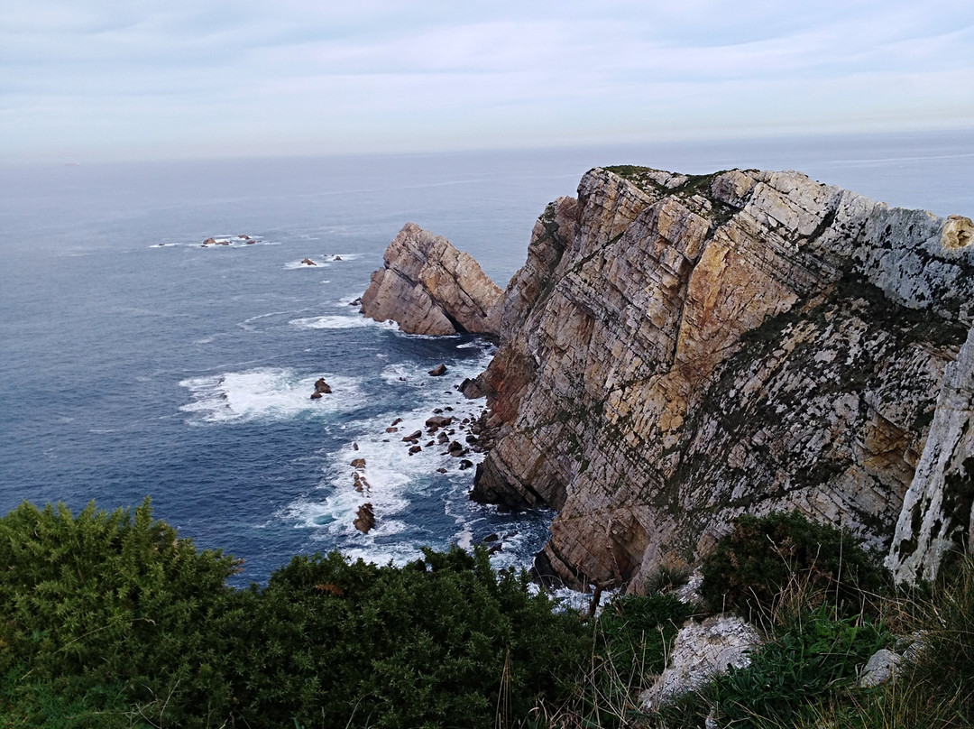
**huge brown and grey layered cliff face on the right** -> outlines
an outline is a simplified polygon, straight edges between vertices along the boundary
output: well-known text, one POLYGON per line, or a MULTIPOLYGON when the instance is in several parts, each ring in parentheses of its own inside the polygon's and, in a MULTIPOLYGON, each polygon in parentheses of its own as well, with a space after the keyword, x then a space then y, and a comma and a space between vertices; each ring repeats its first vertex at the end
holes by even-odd
POLYGON ((970 538, 971 232, 800 173, 587 173, 507 288, 473 498, 557 509, 577 586, 791 508, 929 574, 970 538))

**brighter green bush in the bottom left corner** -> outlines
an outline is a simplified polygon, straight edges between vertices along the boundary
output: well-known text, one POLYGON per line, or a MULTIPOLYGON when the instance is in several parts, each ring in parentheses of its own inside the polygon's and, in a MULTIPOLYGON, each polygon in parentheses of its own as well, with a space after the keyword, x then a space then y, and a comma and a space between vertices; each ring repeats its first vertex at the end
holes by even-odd
POLYGON ((77 517, 22 504, 0 519, 0 564, 0 672, 24 723, 119 725, 225 693, 201 669, 221 651, 201 627, 224 612, 236 562, 178 539, 148 500, 77 517))

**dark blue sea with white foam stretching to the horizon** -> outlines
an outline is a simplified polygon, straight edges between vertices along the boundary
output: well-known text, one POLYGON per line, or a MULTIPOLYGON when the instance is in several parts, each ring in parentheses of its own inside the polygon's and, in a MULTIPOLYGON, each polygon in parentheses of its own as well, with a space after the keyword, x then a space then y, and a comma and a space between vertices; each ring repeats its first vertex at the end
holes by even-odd
POLYGON ((490 345, 403 334, 350 302, 410 220, 503 287, 545 203, 610 164, 797 169, 974 214, 970 132, 0 167, 0 512, 150 495, 182 536, 243 557, 243 582, 299 553, 401 562, 494 533, 499 565, 529 563, 550 513, 472 504, 471 469, 400 440, 434 408, 477 414, 455 386, 490 345), (202 247, 209 237, 231 243, 202 247), (430 377, 439 364, 447 375, 430 377), (313 402, 321 376, 333 393, 313 402), (366 501, 367 535, 353 525, 366 501))

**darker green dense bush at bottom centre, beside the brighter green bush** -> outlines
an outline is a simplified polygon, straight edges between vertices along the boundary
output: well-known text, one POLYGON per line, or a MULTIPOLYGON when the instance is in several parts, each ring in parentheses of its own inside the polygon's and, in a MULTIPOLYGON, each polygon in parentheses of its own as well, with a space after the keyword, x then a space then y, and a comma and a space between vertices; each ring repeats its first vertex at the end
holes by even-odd
MULTIPOLYGON (((552 612, 527 576, 484 550, 425 551, 403 568, 337 553, 275 573, 247 641, 244 718, 306 726, 478 727, 563 692, 585 649, 576 615, 552 612)), ((246 649, 246 646, 244 646, 246 649)))

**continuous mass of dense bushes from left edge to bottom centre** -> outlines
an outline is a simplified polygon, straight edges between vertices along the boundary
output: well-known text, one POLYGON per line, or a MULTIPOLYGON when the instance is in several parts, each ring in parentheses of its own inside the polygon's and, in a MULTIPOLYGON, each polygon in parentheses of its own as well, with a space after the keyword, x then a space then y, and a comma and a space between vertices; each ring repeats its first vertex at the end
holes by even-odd
POLYGON ((0 725, 488 727, 557 698, 588 629, 485 551, 297 556, 233 590, 146 502, 0 518, 0 725))

